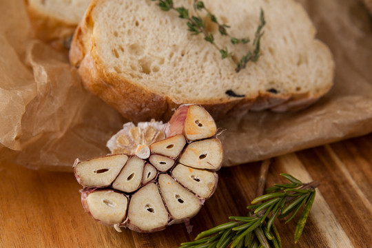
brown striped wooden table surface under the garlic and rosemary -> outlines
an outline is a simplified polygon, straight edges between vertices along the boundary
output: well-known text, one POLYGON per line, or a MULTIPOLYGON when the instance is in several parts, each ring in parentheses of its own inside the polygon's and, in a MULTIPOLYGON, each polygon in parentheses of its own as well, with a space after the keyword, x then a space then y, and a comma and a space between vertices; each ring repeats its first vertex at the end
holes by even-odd
MULTIPOLYGON (((191 220, 191 234, 185 225, 138 234, 118 233, 85 214, 72 174, 1 163, 0 247, 177 247, 228 216, 247 214, 259 165, 220 170, 218 189, 191 220)), ((372 134, 280 156, 267 185, 283 182, 280 172, 321 182, 298 245, 293 244, 296 219, 276 223, 283 247, 372 247, 372 134)))

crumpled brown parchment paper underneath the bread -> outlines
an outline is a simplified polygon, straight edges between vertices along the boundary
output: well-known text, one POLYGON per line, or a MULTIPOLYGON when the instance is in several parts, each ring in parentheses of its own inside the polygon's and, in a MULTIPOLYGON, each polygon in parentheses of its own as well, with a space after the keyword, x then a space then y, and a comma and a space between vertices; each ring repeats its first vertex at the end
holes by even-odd
MULTIPOLYGON (((372 21, 356 0, 302 0, 335 59, 331 92, 285 114, 249 112, 218 121, 224 166, 372 132, 372 21)), ((81 87, 66 54, 30 38, 23 1, 0 0, 0 158, 72 171, 76 157, 107 154, 125 119, 81 87)))

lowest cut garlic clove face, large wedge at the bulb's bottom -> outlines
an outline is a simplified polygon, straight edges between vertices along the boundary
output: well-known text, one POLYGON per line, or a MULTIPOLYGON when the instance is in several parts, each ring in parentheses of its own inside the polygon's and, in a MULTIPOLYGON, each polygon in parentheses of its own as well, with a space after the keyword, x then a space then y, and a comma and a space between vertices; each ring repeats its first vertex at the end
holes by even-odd
POLYGON ((149 183, 136 192, 128 207, 130 229, 153 231, 163 229, 169 220, 167 209, 155 183, 149 183))

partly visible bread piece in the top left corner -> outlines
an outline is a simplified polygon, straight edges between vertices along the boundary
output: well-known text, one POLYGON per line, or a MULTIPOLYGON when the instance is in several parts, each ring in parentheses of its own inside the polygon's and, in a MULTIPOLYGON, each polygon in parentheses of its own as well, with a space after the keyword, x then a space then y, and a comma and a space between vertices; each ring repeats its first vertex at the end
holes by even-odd
POLYGON ((71 37, 90 0, 25 0, 32 35, 52 42, 71 37))

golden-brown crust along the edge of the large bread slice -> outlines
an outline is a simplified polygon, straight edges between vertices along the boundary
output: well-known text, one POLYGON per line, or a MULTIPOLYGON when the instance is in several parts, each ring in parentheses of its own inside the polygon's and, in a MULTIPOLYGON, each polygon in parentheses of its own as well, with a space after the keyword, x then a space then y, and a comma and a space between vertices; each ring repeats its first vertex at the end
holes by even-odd
MULTIPOLYGON (((112 72, 106 72, 99 56, 96 55, 94 37, 91 37, 92 20, 90 14, 98 1, 93 0, 85 13, 84 19, 75 31, 70 50, 70 62, 76 66, 85 88, 112 105, 130 121, 149 121, 151 118, 168 121, 174 110, 181 104, 169 96, 162 96, 112 72)), ((316 40, 315 40, 316 41, 316 40)), ((320 41, 319 49, 327 54, 331 68, 334 67, 331 52, 320 41)), ((333 79, 333 70, 330 70, 333 79)), ((249 110, 273 110, 285 112, 300 110, 315 102, 331 88, 332 81, 327 82, 322 90, 306 94, 273 94, 258 92, 256 96, 229 97, 225 100, 193 102, 203 105, 215 120, 225 116, 246 114, 249 110)))

